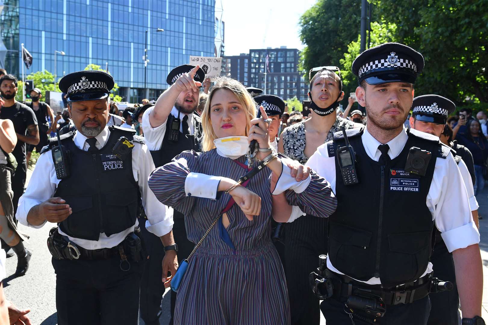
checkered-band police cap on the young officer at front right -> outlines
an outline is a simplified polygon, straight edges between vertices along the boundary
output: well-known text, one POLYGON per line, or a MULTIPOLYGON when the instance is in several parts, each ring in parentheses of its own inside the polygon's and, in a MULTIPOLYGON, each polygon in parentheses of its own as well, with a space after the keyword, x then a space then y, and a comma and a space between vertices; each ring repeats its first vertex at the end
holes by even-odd
POLYGON ((424 57, 411 47, 400 43, 385 43, 367 49, 352 63, 352 73, 359 83, 387 82, 415 83, 424 68, 424 57))

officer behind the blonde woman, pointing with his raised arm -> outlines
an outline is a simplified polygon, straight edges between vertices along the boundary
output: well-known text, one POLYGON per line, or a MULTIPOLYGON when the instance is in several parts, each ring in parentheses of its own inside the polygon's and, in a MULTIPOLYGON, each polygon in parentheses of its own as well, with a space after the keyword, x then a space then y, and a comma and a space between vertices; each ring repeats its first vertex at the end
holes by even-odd
MULTIPOLYGON (((200 151, 202 122, 197 114, 204 72, 199 66, 183 64, 171 70, 166 82, 171 85, 142 116, 144 138, 154 159, 156 167, 181 154, 184 150, 200 151)), ((178 262, 188 257, 194 244, 186 237, 183 214, 174 211, 173 234, 178 250, 178 262)), ((141 284, 141 317, 146 324, 159 324, 161 299, 164 287, 161 278, 166 281, 166 274, 161 274, 163 252, 161 242, 148 234, 149 260, 141 284)), ((169 249, 169 248, 168 248, 169 249)), ((166 252, 167 254, 167 252, 166 252)), ((169 284, 165 284, 169 286, 169 284)), ((171 319, 176 305, 176 293, 171 291, 171 319)))

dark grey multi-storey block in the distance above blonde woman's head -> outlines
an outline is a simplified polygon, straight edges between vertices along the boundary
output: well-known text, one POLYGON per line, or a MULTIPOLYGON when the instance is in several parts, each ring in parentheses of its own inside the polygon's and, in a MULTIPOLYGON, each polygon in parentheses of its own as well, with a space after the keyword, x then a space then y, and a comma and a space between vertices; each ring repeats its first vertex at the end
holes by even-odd
POLYGON ((305 101, 308 99, 309 83, 298 70, 299 58, 300 51, 296 48, 268 47, 251 49, 249 54, 227 56, 223 59, 223 65, 228 77, 237 79, 246 86, 265 89, 267 94, 280 96, 284 100, 296 96, 298 100, 305 101))

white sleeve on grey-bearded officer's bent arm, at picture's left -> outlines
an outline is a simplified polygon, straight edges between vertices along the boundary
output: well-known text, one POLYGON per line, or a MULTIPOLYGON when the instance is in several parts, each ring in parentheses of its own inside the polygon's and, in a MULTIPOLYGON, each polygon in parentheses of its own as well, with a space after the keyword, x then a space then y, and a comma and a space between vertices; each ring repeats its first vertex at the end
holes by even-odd
POLYGON ((17 220, 23 225, 41 228, 46 223, 45 221, 40 225, 33 225, 27 221, 27 215, 33 206, 53 197, 59 182, 50 152, 41 154, 30 178, 29 185, 19 199, 19 206, 15 215, 17 220))

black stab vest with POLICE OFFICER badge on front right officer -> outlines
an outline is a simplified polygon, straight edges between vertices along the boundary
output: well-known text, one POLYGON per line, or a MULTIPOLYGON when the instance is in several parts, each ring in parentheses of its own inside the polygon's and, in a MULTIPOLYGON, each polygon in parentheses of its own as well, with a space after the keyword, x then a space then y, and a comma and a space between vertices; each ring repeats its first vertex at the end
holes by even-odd
MULTIPOLYGON (((440 143, 408 131, 398 157, 381 165, 366 154, 363 129, 347 131, 356 151, 360 183, 344 185, 336 159, 338 204, 329 218, 330 261, 354 279, 381 278, 386 287, 414 281, 427 269, 433 246, 434 223, 426 201, 437 156, 442 154, 440 143), (425 176, 405 171, 412 146, 432 153, 425 176)), ((337 145, 345 145, 342 132, 327 144, 329 156, 335 157, 332 148, 337 145)))

